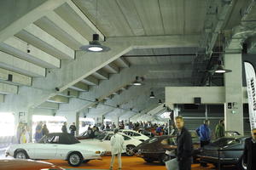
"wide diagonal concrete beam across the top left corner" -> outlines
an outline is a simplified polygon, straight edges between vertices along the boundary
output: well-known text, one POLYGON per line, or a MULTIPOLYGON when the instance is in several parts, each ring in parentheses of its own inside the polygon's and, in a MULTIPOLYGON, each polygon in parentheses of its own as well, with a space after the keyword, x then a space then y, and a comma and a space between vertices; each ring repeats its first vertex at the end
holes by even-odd
MULTIPOLYGON (((5 41, 9 37, 13 37, 17 32, 22 28, 30 25, 32 22, 40 19, 45 14, 49 13, 53 9, 59 7, 62 3, 65 3, 62 0, 38 0, 38 1, 22 1, 15 2, 5 1, 1 7, 3 10, 8 10, 6 7, 12 8, 12 13, 4 13, 8 16, 5 16, 8 20, 4 20, 3 30, 0 31, 0 42, 5 41), (8 3, 7 3, 8 2, 8 3), (5 4, 4 4, 5 3, 5 4), (22 7, 22 8, 20 8, 22 7)), ((1 8, 1 11, 3 11, 1 8)))

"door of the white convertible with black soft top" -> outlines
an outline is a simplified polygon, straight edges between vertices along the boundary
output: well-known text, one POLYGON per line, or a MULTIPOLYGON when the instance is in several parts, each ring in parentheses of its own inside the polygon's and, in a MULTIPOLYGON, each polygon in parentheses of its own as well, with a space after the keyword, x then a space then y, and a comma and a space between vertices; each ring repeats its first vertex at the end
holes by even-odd
POLYGON ((45 136, 44 143, 36 144, 34 159, 55 159, 59 136, 45 136))

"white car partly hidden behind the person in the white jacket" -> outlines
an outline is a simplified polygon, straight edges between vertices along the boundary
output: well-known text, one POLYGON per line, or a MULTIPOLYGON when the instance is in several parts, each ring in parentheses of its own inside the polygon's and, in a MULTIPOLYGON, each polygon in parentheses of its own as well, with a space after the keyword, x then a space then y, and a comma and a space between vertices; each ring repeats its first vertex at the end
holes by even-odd
MULTIPOLYGON (((133 156, 134 148, 141 144, 142 141, 138 139, 134 139, 131 136, 126 135, 125 133, 119 133, 121 134, 125 139, 125 148, 123 153, 125 153, 127 156, 133 156)), ((98 136, 96 136, 95 139, 80 139, 82 144, 95 144, 100 147, 102 147, 106 152, 109 154, 111 153, 111 145, 110 145, 110 139, 113 136, 113 132, 104 132, 100 133, 98 136)))

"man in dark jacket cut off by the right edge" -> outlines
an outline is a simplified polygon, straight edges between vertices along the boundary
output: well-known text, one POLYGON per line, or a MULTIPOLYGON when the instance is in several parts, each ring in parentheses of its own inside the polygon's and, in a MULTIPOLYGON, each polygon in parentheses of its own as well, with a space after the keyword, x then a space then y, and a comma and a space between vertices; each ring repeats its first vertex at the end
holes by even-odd
POLYGON ((247 165, 247 170, 256 169, 256 128, 252 130, 252 137, 245 140, 243 162, 247 165))

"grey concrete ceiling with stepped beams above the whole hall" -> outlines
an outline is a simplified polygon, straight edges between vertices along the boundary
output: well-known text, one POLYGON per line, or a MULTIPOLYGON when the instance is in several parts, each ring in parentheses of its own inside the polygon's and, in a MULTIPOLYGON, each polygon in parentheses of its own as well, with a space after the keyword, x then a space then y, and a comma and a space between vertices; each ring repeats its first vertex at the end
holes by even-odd
MULTIPOLYGON (((87 111, 89 116, 122 110, 128 114, 125 117, 147 112, 158 105, 157 100, 148 102, 151 91, 164 100, 164 87, 200 82, 204 77, 200 71, 209 60, 206 49, 214 47, 219 29, 230 31, 240 24, 240 11, 249 4, 249 0, 1 1, 0 9, 5 8, 0 10, 0 110, 87 111), (223 20, 218 20, 219 14, 223 20), (111 51, 79 51, 95 32, 111 51), (135 77, 145 79, 142 87, 131 86, 135 77)), ((247 20, 255 19, 252 11, 247 20)))

